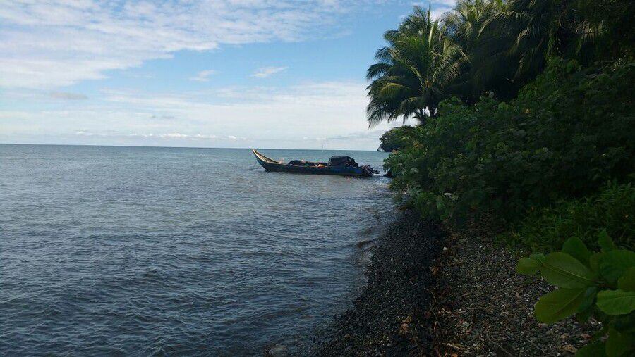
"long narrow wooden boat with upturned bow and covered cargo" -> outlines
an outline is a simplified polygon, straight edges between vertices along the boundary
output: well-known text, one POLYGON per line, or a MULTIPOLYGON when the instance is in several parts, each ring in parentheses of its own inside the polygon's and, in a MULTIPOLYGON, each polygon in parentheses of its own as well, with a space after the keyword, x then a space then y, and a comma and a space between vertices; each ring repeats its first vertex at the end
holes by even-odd
POLYGON ((353 166, 331 166, 326 163, 303 163, 303 165, 290 165, 267 158, 255 149, 253 151, 256 160, 267 171, 277 171, 281 173, 304 173, 311 175, 340 175, 356 177, 372 177, 375 173, 368 165, 360 167, 353 166))

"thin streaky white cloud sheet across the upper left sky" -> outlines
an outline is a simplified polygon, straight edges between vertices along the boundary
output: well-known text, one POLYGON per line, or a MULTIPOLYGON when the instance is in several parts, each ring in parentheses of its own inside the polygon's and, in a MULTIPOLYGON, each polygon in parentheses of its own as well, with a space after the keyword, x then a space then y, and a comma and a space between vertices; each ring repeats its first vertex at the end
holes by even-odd
POLYGON ((297 41, 339 31, 351 0, 0 0, 0 87, 106 77, 181 50, 297 41))

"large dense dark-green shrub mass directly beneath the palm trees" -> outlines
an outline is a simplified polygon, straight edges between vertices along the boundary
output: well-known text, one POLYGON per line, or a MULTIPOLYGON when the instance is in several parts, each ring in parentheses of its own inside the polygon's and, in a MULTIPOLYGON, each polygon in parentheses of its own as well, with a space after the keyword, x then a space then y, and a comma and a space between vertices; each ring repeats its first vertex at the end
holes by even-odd
POLYGON ((428 217, 501 221, 589 194, 635 167, 635 63, 579 70, 552 58, 509 104, 444 101, 386 168, 428 217))

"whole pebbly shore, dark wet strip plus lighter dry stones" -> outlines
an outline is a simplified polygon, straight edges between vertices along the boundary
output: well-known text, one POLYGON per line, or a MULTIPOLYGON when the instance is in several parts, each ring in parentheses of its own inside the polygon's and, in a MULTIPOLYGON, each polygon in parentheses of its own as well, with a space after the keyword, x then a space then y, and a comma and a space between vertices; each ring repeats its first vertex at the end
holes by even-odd
POLYGON ((320 356, 566 356, 599 328, 540 324, 548 285, 516 274, 526 252, 488 234, 445 234, 404 211, 370 249, 368 284, 317 332, 320 356))

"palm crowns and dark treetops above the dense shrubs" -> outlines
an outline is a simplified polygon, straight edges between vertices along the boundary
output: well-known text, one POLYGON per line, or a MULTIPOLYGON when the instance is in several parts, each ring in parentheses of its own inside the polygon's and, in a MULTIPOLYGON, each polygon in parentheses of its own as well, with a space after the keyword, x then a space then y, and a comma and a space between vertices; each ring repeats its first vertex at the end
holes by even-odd
POLYGON ((415 7, 385 33, 387 46, 368 68, 368 123, 415 118, 425 124, 451 96, 467 104, 483 94, 512 99, 542 73, 549 56, 585 66, 628 61, 633 13, 620 0, 459 0, 438 20, 415 7))

